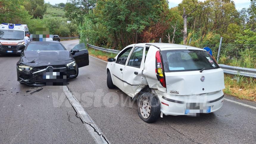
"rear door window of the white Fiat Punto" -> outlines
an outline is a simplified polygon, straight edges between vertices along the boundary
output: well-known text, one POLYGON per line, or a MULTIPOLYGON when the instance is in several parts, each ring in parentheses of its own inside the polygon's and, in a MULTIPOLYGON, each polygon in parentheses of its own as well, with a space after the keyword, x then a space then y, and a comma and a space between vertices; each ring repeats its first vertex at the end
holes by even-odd
POLYGON ((140 68, 143 57, 143 49, 144 48, 141 47, 135 47, 127 65, 140 68))

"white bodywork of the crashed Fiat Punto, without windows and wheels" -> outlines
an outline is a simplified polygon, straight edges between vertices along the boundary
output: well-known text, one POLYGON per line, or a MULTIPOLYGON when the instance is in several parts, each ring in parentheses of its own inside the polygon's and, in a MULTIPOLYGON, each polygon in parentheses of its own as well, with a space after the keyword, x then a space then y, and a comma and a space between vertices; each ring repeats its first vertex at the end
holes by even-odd
MULTIPOLYGON (((107 71, 110 71, 113 84, 121 89, 128 96, 135 98, 137 94, 146 86, 157 95, 161 103, 161 117, 165 115, 190 115, 186 112, 188 103, 204 103, 211 107, 210 112, 221 108, 224 99, 223 89, 224 73, 221 68, 199 71, 166 72, 166 88, 163 87, 156 75, 156 52, 165 50, 202 50, 191 46, 168 44, 168 43, 140 43, 125 47, 122 51, 132 47, 125 65, 115 62, 107 63, 107 71), (151 46, 150 46, 151 45, 151 46), (154 46, 153 46, 154 45, 154 46), (145 59, 146 46, 149 50, 145 59), (127 66, 129 58, 135 47, 143 47, 143 58, 140 68, 127 66), (123 69, 123 71, 119 70, 123 69), (138 72, 135 75, 134 72, 138 72), (119 78, 113 73, 118 73, 119 78), (121 78, 121 74, 123 75, 121 78), (205 81, 200 78, 204 76, 205 81), (174 91, 174 93, 172 93, 174 91)), ((121 54, 122 51, 119 53, 121 54)), ((115 57, 118 59, 119 54, 115 57)), ((196 111, 195 111, 196 112, 196 111)), ((193 111, 191 112, 193 113, 193 111)), ((202 113, 205 113, 202 112, 202 113)))

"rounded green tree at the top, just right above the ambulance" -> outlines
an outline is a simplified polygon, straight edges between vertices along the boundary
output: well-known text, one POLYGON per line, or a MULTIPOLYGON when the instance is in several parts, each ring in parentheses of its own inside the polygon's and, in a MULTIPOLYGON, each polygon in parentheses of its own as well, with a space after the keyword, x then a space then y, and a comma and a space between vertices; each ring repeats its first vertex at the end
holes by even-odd
POLYGON ((44 0, 26 0, 24 1, 24 7, 33 18, 43 19, 43 15, 46 12, 47 5, 44 0))

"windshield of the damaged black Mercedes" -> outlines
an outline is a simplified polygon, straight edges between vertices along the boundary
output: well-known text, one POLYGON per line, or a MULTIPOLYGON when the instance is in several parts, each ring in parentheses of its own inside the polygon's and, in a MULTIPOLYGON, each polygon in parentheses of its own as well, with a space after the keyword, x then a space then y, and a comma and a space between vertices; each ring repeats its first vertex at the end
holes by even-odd
POLYGON ((53 42, 30 42, 26 51, 64 51, 65 48, 60 43, 53 42))

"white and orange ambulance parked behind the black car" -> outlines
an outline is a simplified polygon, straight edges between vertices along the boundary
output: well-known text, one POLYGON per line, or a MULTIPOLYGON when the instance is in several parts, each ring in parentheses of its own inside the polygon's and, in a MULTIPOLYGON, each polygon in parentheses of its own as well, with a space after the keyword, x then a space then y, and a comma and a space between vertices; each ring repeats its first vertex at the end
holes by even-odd
POLYGON ((18 50, 24 50, 24 37, 28 32, 26 24, 0 25, 0 54, 16 54, 18 50))

